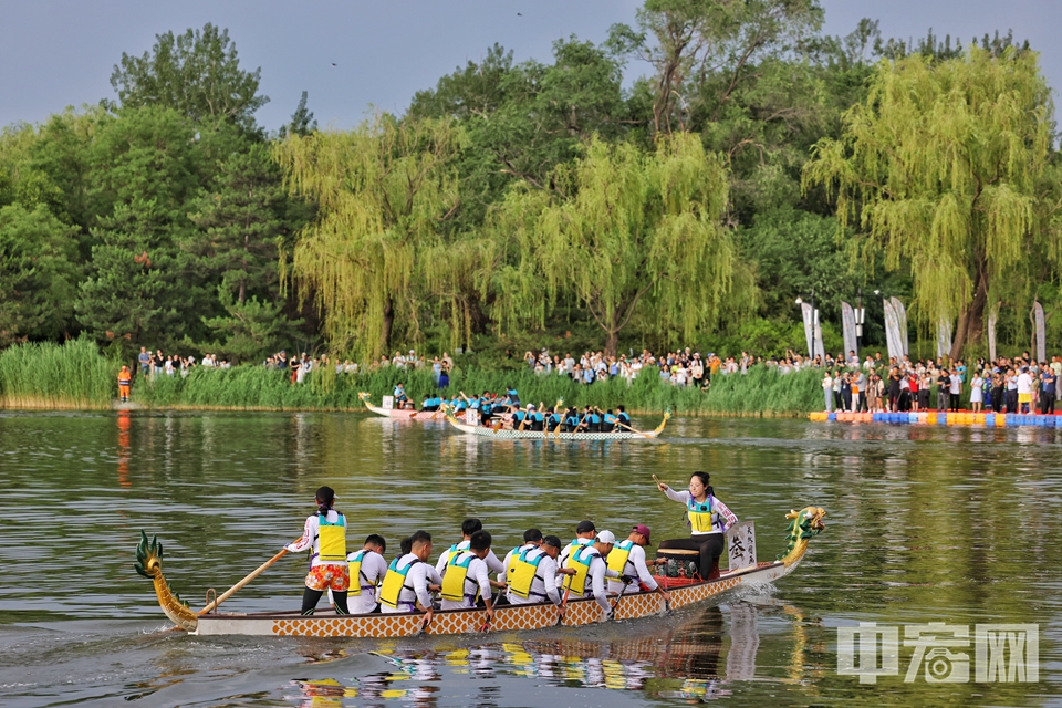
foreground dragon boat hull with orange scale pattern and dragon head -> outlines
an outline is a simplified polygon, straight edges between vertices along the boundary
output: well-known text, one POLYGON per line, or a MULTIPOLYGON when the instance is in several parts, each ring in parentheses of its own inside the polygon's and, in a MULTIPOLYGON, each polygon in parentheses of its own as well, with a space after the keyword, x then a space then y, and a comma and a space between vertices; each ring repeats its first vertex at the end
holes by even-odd
MULTIPOLYGON (((754 587, 771 583, 793 572, 808 551, 808 542, 825 528, 826 512, 821 507, 805 507, 785 516, 792 522, 787 535, 785 553, 773 562, 760 562, 748 568, 726 571, 709 580, 658 577, 670 594, 665 603, 656 592, 624 593, 615 600, 615 620, 636 620, 659 616, 669 610, 678 610, 709 600, 738 587, 754 587)), ((258 636, 310 636, 310 637, 408 637, 419 634, 468 634, 489 629, 530 631, 554 626, 575 627, 602 622, 604 612, 593 597, 568 603, 563 618, 558 622, 552 603, 530 605, 503 605, 494 610, 494 618, 488 623, 487 613, 479 608, 437 611, 425 625, 426 615, 368 614, 335 615, 319 613, 302 616, 299 611, 271 613, 221 613, 196 612, 180 600, 163 576, 163 545, 157 538, 147 540, 140 532, 136 549, 136 571, 150 579, 163 612, 180 629, 195 635, 258 635, 258 636)))

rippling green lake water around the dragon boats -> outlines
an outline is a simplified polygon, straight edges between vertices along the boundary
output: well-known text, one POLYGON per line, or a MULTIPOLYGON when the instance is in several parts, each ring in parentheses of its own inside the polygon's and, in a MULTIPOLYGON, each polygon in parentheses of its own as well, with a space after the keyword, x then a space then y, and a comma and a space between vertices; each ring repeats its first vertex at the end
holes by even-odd
MULTIPOLYGON (((1062 705, 1062 431, 673 419, 665 435, 492 441, 361 414, 0 413, 0 704, 1062 705), (140 530, 158 534, 171 586, 200 607, 301 534, 321 485, 355 540, 382 533, 388 551, 420 528, 439 551, 469 516, 500 551, 529 527, 566 540, 584 518, 617 535, 646 523, 659 542, 686 531, 652 475, 683 488, 698 469, 756 520, 761 560, 782 552, 792 508, 824 507, 827 528, 794 573, 721 604, 450 638, 187 636, 167 632, 133 570, 140 530), (839 627, 860 623, 897 628, 898 675, 839 675, 839 627), (927 680, 925 666, 905 681, 919 652, 905 638, 927 623, 956 642, 968 629, 968 646, 920 649, 930 678, 965 667, 968 681, 927 680), (1038 681, 975 680, 975 625, 1001 623, 1039 626, 1038 681)), ((223 607, 296 610, 304 572, 282 559, 223 607)))

